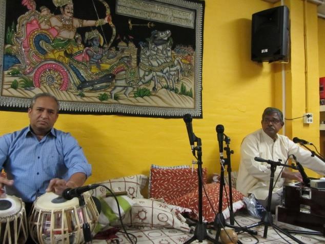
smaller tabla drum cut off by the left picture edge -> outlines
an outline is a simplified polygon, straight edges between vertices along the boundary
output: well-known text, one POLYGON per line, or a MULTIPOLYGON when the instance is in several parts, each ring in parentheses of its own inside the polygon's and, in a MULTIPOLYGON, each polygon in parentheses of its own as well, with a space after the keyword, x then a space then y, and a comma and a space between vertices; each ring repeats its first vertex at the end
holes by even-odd
POLYGON ((25 203, 7 195, 0 198, 0 243, 25 243, 28 237, 25 203))

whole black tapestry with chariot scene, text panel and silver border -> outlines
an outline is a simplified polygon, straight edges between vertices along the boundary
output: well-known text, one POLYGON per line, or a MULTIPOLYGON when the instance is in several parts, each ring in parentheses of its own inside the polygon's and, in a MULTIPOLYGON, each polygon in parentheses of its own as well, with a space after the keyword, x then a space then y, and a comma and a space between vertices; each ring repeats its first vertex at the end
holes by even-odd
POLYGON ((0 0, 0 110, 202 117, 205 2, 0 0))

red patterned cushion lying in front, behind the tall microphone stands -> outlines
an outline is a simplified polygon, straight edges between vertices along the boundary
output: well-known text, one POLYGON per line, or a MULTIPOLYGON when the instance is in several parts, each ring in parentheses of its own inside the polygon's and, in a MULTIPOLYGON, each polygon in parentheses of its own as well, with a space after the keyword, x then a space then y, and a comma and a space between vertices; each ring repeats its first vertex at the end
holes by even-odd
MULTIPOLYGON (((219 183, 206 184, 205 189, 206 189, 207 195, 211 201, 211 205, 213 206, 213 210, 215 212, 218 212, 219 190, 220 190, 219 183)), ((228 207, 225 190, 227 191, 227 195, 229 198, 229 187, 226 186, 224 188, 223 197, 222 197, 222 211, 226 210, 228 207)), ((234 207, 233 211, 234 212, 244 206, 243 203, 241 204, 243 195, 240 192, 238 192, 235 188, 232 188, 232 198, 233 198, 233 207, 234 207), (238 202, 238 201, 240 201, 240 204, 236 205, 236 202, 238 202)), ((184 196, 181 196, 177 199, 170 201, 169 204, 191 209, 192 212, 190 214, 190 217, 192 217, 193 219, 198 219, 198 189, 195 189, 184 196)), ((207 222, 214 221, 215 214, 214 214, 213 210, 212 210, 212 208, 209 204, 209 201, 203 191, 202 215, 203 215, 204 221, 207 221, 207 222)), ((226 216, 225 216, 225 218, 226 218, 226 216)))

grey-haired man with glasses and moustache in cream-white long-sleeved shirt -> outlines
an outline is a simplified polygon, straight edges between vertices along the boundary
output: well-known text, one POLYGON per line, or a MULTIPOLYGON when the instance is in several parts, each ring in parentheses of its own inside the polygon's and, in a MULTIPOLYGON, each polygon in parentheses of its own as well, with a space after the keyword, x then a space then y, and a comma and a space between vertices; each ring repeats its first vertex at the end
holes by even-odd
MULTIPOLYGON (((317 173, 325 173, 325 163, 311 152, 299 147, 287 136, 277 134, 284 125, 283 114, 276 108, 266 108, 261 120, 262 129, 246 136, 241 144, 240 165, 236 188, 248 196, 254 194, 260 204, 266 207, 270 184, 270 165, 267 162, 258 162, 254 157, 286 162, 290 155, 295 155, 301 165, 317 173)), ((292 157, 291 157, 292 158, 292 157)), ((287 167, 276 167, 274 173, 274 188, 272 194, 271 212, 282 201, 282 186, 288 180, 302 181, 299 172, 292 172, 287 167), (279 176, 280 174, 280 176, 279 176), (279 176, 279 177, 278 177, 279 176), (275 181, 278 178, 277 181, 275 181)))

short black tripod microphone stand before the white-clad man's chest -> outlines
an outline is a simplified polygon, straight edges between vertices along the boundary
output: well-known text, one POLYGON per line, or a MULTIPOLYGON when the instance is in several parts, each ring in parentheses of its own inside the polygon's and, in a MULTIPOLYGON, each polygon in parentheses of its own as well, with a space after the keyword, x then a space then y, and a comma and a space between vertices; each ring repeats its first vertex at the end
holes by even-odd
POLYGON ((280 231, 281 233, 283 233, 286 236, 290 237, 291 239, 293 239, 297 243, 304 244, 304 242, 298 240, 296 237, 291 235, 286 230, 282 230, 278 226, 274 225, 273 224, 273 217, 272 217, 272 213, 271 213, 271 200, 272 200, 272 191, 273 191, 273 181, 274 181, 274 172, 276 170, 276 166, 283 166, 283 167, 288 167, 288 168, 292 168, 292 169, 295 169, 295 166, 281 164, 280 161, 272 161, 272 160, 267 160, 267 163, 269 165, 271 165, 271 167, 270 167, 271 176, 270 176, 270 186, 269 186, 269 194, 268 194, 268 202, 267 202, 266 212, 263 213, 261 221, 259 221, 257 223, 254 223, 253 225, 248 226, 248 228, 253 228, 253 227, 264 225, 263 238, 267 238, 268 227, 271 226, 273 229, 276 229, 276 230, 280 231))

